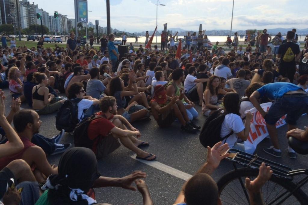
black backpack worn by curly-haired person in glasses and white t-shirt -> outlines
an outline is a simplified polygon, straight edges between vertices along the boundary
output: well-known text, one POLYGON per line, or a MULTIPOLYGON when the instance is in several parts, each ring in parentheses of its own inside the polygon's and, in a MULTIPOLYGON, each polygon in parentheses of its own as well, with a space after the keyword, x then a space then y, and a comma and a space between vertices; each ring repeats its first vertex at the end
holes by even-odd
POLYGON ((66 100, 56 115, 56 128, 66 132, 74 131, 76 125, 79 123, 78 119, 78 102, 82 99, 75 98, 72 100, 66 100))

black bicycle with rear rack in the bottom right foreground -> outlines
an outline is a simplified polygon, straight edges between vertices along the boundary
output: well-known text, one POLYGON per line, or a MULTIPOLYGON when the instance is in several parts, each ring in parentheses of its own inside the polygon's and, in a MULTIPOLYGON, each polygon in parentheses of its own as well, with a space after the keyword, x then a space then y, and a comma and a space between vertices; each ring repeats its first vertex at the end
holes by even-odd
POLYGON ((218 181, 220 199, 223 204, 250 204, 245 188, 245 178, 255 179, 262 162, 273 170, 271 179, 261 189, 265 204, 307 204, 308 196, 301 187, 308 181, 308 169, 293 170, 291 167, 264 159, 258 155, 229 149, 228 160, 233 162, 234 170, 223 175, 218 181), (240 164, 244 167, 238 168, 240 164), (294 176, 306 175, 299 181, 294 176))

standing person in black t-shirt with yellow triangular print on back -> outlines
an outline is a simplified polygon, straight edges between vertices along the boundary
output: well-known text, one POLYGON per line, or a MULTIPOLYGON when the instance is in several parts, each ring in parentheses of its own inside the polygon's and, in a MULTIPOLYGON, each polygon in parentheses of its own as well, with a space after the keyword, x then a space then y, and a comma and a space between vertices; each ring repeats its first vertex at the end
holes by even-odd
POLYGON ((288 31, 286 36, 287 42, 279 46, 277 53, 277 57, 280 58, 279 73, 283 77, 289 78, 292 83, 296 72, 295 59, 300 52, 299 46, 292 42, 294 35, 293 31, 288 31))

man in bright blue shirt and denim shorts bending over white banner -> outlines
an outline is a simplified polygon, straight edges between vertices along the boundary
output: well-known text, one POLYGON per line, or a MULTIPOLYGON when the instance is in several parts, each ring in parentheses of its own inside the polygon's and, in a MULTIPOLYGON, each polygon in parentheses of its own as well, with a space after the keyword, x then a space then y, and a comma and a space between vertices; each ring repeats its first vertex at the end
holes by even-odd
MULTIPOLYGON (((281 157, 281 151, 278 143, 278 135, 276 130, 276 122, 287 114, 286 123, 288 131, 296 128, 296 121, 308 110, 308 95, 302 88, 289 82, 269 83, 258 90, 254 91, 250 96, 250 102, 263 116, 271 141, 274 146, 263 149, 266 153, 274 157, 281 157), (274 101, 270 109, 265 112, 258 99, 266 96, 274 101)), ((296 158, 296 153, 290 147, 288 148, 289 157, 296 158)))

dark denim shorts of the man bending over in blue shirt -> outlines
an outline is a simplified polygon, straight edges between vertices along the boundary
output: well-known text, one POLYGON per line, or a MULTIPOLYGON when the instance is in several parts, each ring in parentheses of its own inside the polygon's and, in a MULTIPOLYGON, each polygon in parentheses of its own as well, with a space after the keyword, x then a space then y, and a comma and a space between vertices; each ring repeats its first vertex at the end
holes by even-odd
POLYGON ((296 125, 299 117, 307 111, 307 94, 285 94, 272 104, 264 119, 267 124, 275 125, 282 116, 287 114, 286 123, 296 125))

